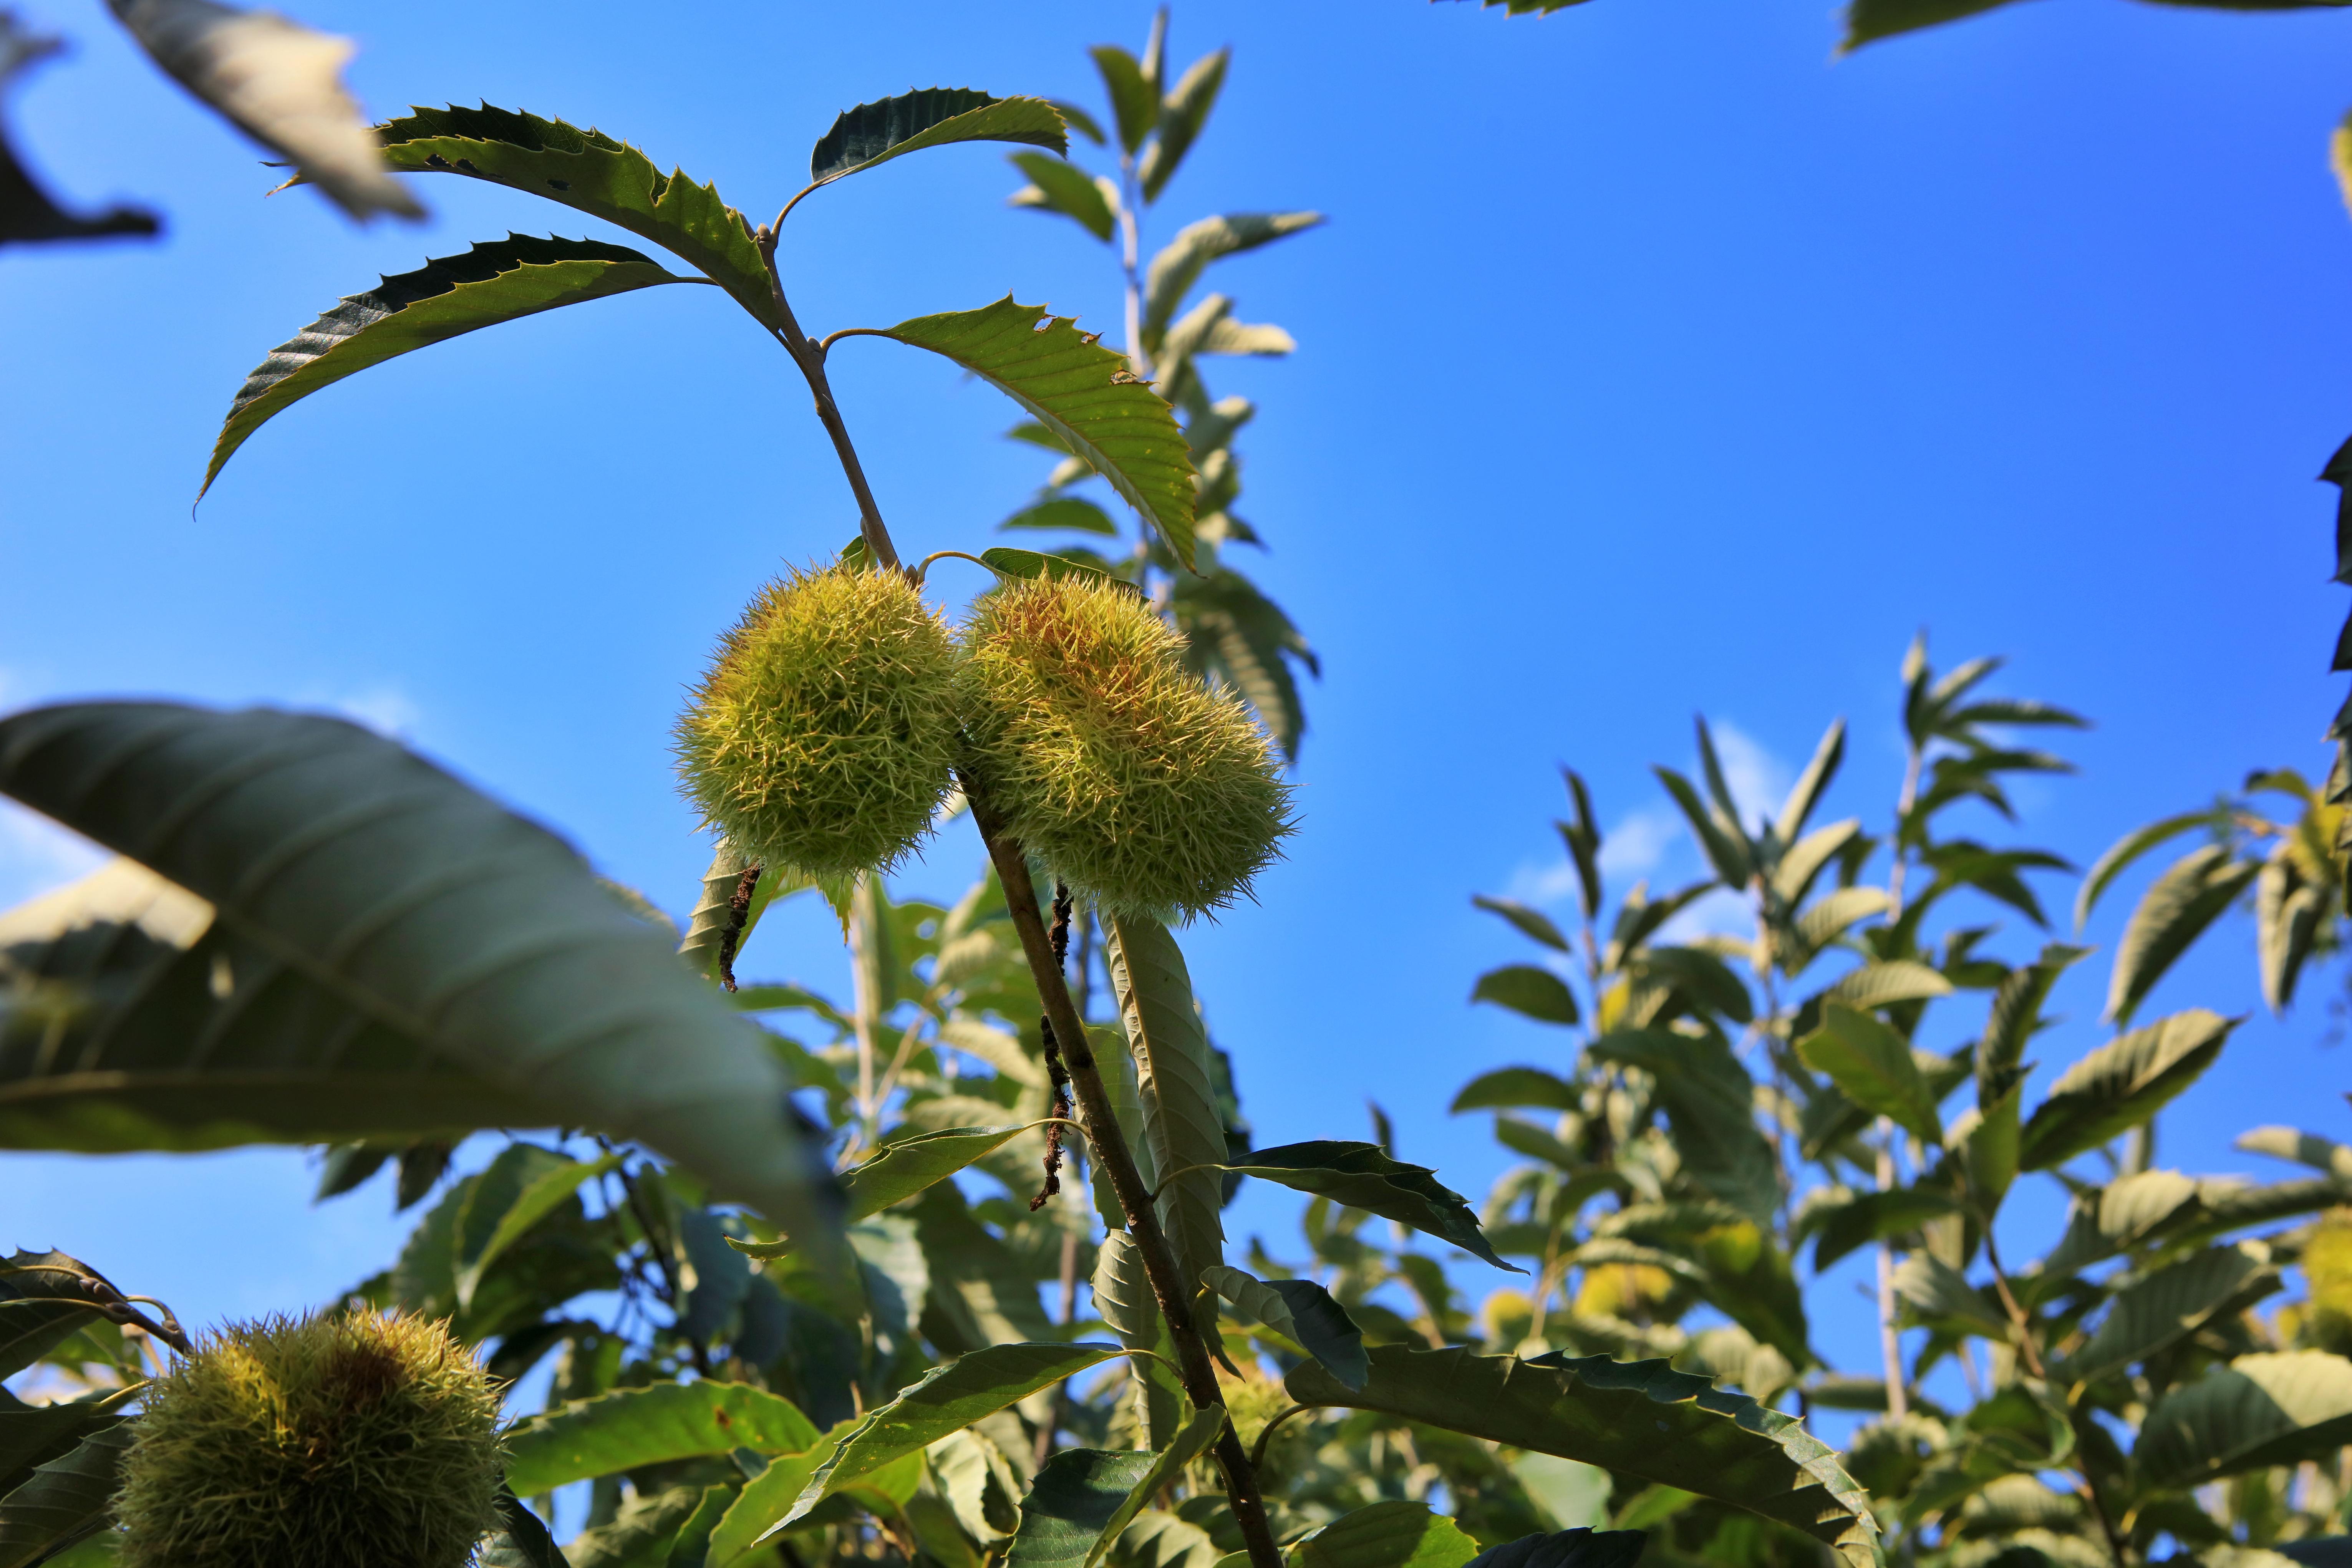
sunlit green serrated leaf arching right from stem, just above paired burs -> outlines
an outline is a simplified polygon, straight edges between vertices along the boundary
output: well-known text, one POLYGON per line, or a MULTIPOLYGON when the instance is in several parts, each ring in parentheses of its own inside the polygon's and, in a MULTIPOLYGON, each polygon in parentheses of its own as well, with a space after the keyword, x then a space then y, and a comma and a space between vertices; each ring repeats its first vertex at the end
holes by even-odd
POLYGON ((1192 456, 1167 402, 1096 334, 1011 294, 978 310, 917 315, 880 336, 955 360, 1018 402, 1192 567, 1192 456))

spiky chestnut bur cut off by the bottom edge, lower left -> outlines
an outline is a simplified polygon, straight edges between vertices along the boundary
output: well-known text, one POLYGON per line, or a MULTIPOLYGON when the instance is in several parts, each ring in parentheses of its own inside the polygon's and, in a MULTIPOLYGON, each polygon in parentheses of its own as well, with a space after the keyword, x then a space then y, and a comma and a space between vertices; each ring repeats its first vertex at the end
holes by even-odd
POLYGON ((499 1389, 442 1324, 205 1335, 122 1462, 127 1568, 461 1568, 499 1528, 499 1389))

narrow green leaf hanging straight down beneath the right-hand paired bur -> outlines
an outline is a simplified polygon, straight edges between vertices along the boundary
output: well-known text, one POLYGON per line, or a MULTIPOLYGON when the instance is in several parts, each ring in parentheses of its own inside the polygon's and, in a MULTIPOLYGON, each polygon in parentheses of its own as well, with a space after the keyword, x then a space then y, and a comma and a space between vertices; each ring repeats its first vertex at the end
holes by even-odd
POLYGON ((1103 917, 1103 959, 1127 1046, 1136 1063, 1143 1140, 1157 1187, 1155 1208, 1176 1272, 1197 1288, 1202 1269, 1225 1262, 1225 1114, 1216 1103, 1209 1034, 1192 1006, 1192 976, 1169 929, 1131 914, 1103 917))

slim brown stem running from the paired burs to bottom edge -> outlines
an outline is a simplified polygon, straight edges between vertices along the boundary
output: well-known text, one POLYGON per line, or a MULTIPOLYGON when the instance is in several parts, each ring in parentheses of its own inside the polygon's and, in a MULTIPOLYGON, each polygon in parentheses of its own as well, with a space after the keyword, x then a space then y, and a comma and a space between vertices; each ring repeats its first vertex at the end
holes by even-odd
MULTIPOLYGON (((1028 856, 1004 830, 1004 818, 997 816, 978 778, 969 771, 960 776, 964 799, 971 802, 971 823, 981 830, 988 858, 1004 884, 1004 903, 1011 910, 1014 931, 1021 936, 1021 952, 1028 957, 1030 976, 1037 980, 1037 999, 1044 1006, 1047 1023, 1054 1025, 1054 1037, 1061 1041, 1063 1063, 1070 1067, 1070 1088, 1077 1093, 1080 1117, 1087 1124, 1087 1143, 1094 1147, 1094 1159, 1103 1166, 1103 1175, 1110 1178, 1110 1190, 1120 1197, 1120 1208, 1127 1213, 1127 1234, 1136 1241, 1143 1272, 1150 1276, 1152 1295, 1160 1300, 1160 1316, 1167 1319, 1183 1392, 1197 1408, 1223 1406, 1225 1394, 1216 1385, 1209 1345, 1192 1324, 1192 1293, 1176 1272, 1176 1251, 1169 1246, 1167 1232, 1160 1229, 1160 1213, 1152 1208, 1150 1190, 1145 1190, 1136 1157, 1120 1131, 1117 1112, 1110 1107, 1110 1091, 1103 1086, 1103 1072, 1094 1063, 1087 1025, 1070 1004, 1070 985, 1061 973, 1061 964, 1054 961, 1054 940, 1037 914, 1037 886, 1030 882, 1028 856)), ((1216 1462, 1225 1472, 1225 1497, 1232 1505, 1232 1521, 1242 1528, 1242 1542, 1249 1547, 1251 1568, 1282 1568, 1282 1549, 1275 1544, 1272 1523, 1265 1516, 1265 1497, 1258 1493, 1258 1472, 1249 1462, 1249 1453, 1242 1450, 1242 1439, 1235 1434, 1230 1420, 1216 1439, 1216 1462)))

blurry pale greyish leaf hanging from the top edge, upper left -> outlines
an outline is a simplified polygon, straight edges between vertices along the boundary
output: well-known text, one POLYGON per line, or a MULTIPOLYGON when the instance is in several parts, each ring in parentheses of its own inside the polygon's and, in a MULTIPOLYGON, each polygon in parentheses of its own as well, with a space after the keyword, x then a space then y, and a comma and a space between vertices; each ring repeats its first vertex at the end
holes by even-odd
POLYGON ((355 219, 426 209, 400 188, 341 71, 355 47, 275 12, 207 0, 108 0, 165 75, 280 153, 355 219))

